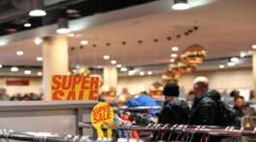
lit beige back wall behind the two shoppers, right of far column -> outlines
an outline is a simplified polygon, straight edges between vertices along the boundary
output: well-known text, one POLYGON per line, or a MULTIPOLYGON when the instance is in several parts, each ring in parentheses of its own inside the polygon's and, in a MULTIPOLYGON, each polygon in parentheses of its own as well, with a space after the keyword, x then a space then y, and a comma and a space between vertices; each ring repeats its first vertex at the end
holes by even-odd
MULTIPOLYGON (((236 70, 218 70, 197 72, 193 74, 183 75, 179 84, 185 88, 185 92, 192 89, 192 82, 196 76, 205 76, 210 80, 210 87, 218 90, 230 89, 252 89, 252 69, 236 69, 236 70)), ((118 89, 128 87, 130 93, 137 93, 142 90, 148 90, 149 85, 156 81, 160 81, 160 76, 145 77, 121 77, 119 78, 118 89)))

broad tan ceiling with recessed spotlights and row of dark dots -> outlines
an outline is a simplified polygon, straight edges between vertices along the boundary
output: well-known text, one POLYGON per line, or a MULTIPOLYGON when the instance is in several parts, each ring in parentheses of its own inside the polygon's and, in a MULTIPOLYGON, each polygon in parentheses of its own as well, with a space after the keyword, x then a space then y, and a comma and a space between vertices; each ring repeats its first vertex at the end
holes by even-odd
MULTIPOLYGON (((102 59, 104 55, 110 55, 111 59, 125 66, 168 63, 172 53, 170 47, 180 47, 181 53, 194 43, 206 47, 207 59, 221 59, 239 56, 241 51, 250 50, 256 42, 255 0, 189 2, 193 7, 187 11, 172 11, 170 0, 158 0, 88 17, 87 20, 93 19, 89 26, 75 32, 80 36, 69 37, 69 46, 73 49, 70 50, 71 65, 110 64, 102 59), (185 36, 185 32, 195 26, 198 30, 185 36), (177 35, 181 37, 177 38, 177 35), (169 36, 171 40, 168 40, 169 36), (87 39, 89 45, 80 48, 82 39, 87 39), (138 43, 138 40, 142 42, 138 43)), ((85 23, 84 19, 86 17, 79 22, 85 23)), ((74 25, 71 23, 72 28, 74 25)), ((48 27, 52 28, 54 26, 48 27)), ((52 30, 46 30, 47 27, 44 27, 43 34, 53 34, 52 30)), ((35 45, 34 37, 37 35, 32 32, 23 33, 24 38, 20 37, 21 33, 19 38, 13 38, 8 45, 0 47, 0 63, 42 65, 36 60, 36 57, 42 56, 42 47, 35 45), (24 55, 17 57, 15 52, 18 50, 24 51, 24 55)))

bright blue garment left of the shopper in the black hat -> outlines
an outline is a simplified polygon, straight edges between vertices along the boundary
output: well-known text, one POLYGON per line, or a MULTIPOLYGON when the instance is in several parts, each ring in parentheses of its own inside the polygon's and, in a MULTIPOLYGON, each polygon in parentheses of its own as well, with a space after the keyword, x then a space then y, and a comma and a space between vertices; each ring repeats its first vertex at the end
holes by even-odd
MULTIPOLYGON (((128 107, 135 106, 157 106, 156 101, 148 95, 139 95, 138 97, 134 97, 130 99, 127 103, 128 107)), ((159 112, 160 109, 152 109, 149 114, 151 116, 156 116, 156 113, 159 112)))

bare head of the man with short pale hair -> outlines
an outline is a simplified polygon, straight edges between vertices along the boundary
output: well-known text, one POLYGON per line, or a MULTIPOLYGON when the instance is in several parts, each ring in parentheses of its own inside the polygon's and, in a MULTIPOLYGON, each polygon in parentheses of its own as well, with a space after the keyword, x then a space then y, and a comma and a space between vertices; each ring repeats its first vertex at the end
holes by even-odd
POLYGON ((193 84, 193 92, 197 98, 201 98, 209 89, 209 81, 206 77, 195 78, 193 84))

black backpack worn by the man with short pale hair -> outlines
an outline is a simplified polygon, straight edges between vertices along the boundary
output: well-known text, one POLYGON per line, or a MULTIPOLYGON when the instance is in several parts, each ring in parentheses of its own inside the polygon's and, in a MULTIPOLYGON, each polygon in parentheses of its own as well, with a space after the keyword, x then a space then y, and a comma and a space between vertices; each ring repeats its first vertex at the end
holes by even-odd
POLYGON ((235 124, 235 111, 232 107, 228 106, 226 103, 220 100, 220 94, 213 90, 210 92, 213 96, 219 97, 210 97, 213 99, 216 105, 216 115, 215 122, 217 126, 233 126, 235 124), (214 94, 213 94, 214 93, 214 94))

